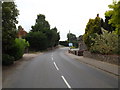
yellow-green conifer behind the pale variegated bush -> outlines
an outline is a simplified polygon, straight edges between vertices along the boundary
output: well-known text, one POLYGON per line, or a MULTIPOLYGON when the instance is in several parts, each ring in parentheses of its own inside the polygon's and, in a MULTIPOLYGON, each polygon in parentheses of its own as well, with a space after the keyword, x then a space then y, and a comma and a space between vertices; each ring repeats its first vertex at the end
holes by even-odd
POLYGON ((86 28, 85 28, 85 34, 83 35, 83 40, 87 46, 87 49, 89 50, 91 47, 91 43, 93 41, 90 39, 90 37, 95 38, 95 34, 102 34, 101 32, 101 20, 99 17, 96 17, 95 19, 89 19, 86 28))

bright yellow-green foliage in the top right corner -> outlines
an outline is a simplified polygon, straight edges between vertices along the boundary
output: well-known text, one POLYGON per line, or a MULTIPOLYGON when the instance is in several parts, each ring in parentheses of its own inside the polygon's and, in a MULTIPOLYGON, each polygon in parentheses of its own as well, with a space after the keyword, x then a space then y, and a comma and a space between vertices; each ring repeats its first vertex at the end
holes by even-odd
POLYGON ((120 1, 114 1, 113 4, 109 5, 109 8, 112 10, 106 11, 105 15, 111 16, 109 24, 116 27, 116 33, 120 35, 120 1))

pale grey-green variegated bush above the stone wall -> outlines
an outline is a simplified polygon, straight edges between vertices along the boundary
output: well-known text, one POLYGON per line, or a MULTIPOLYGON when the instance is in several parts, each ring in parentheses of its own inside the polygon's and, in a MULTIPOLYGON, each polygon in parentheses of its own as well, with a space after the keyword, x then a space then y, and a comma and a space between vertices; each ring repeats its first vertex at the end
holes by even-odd
POLYGON ((120 54, 118 35, 115 32, 109 33, 102 30, 103 34, 96 34, 96 38, 91 38, 95 43, 91 43, 90 51, 100 54, 120 54))

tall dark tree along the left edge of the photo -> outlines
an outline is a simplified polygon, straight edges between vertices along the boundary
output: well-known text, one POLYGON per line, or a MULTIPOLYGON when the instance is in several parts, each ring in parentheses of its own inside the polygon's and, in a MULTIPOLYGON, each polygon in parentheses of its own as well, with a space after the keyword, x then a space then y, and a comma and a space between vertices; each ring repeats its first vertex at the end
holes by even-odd
POLYGON ((9 49, 13 46, 16 38, 16 24, 19 11, 14 2, 2 3, 2 51, 10 53, 9 49))

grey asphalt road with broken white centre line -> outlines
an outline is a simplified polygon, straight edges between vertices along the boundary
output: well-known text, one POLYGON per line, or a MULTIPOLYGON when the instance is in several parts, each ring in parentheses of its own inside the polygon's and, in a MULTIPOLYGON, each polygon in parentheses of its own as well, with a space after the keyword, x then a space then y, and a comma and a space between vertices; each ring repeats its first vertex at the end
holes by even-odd
POLYGON ((6 77, 3 88, 118 87, 115 76, 68 57, 67 50, 59 48, 24 62, 6 77))

